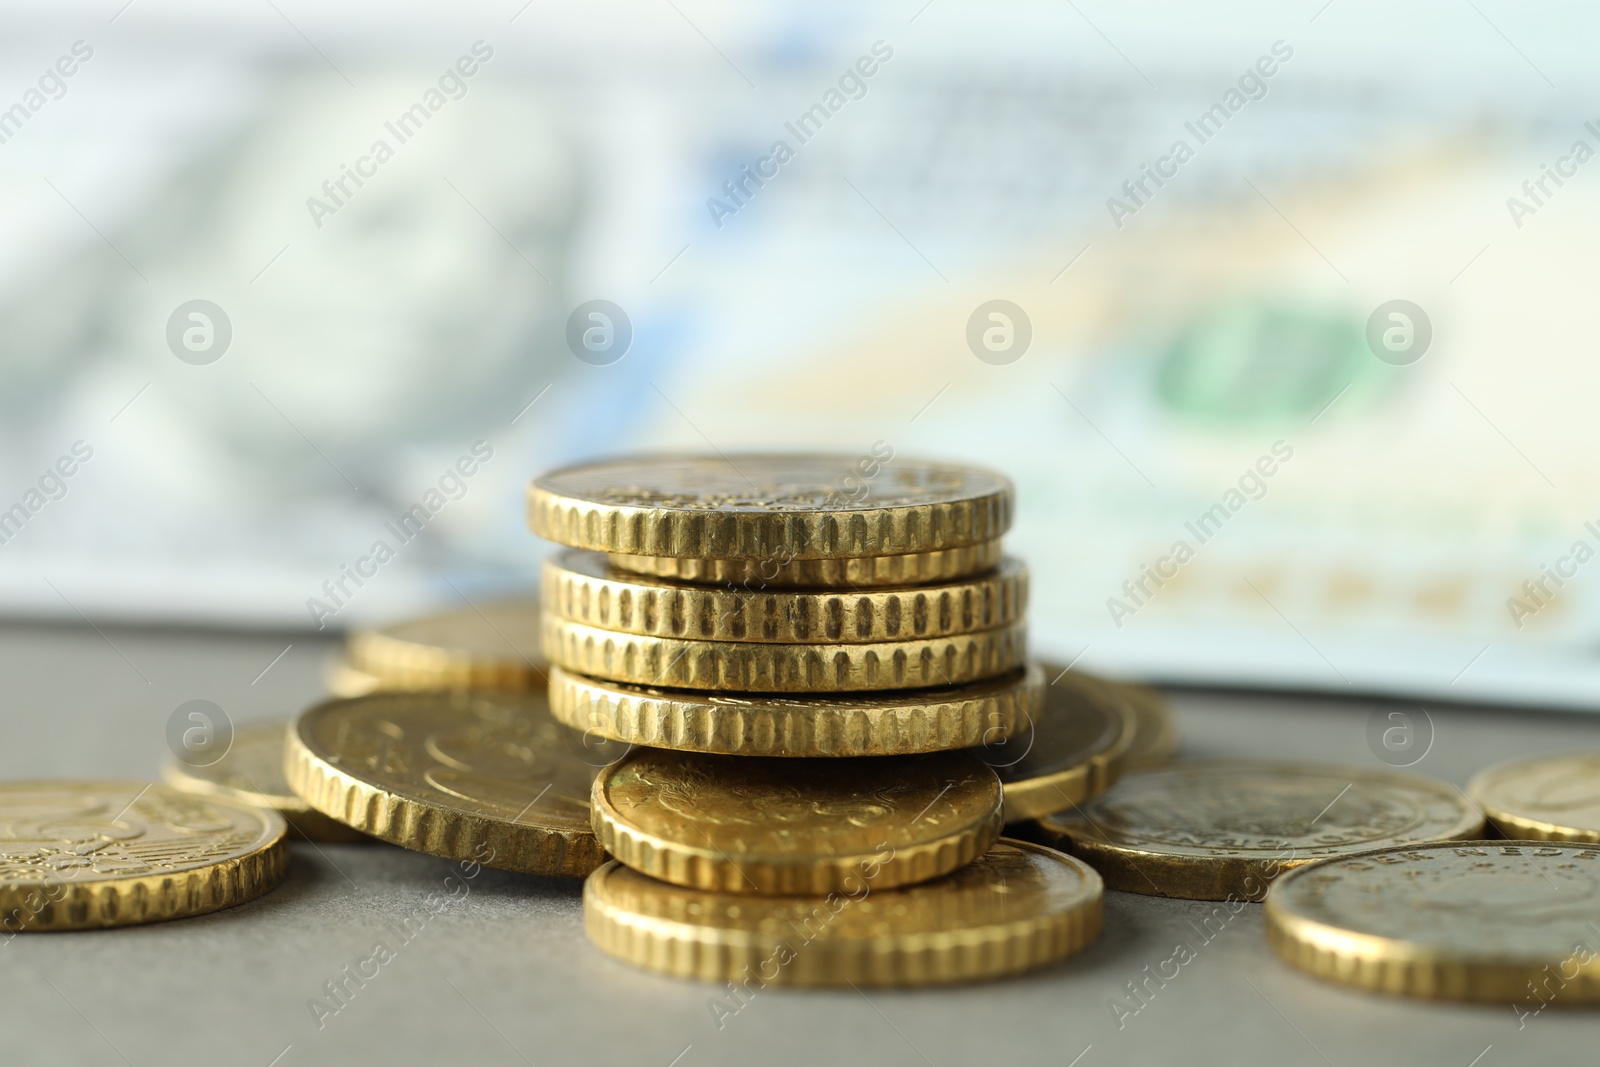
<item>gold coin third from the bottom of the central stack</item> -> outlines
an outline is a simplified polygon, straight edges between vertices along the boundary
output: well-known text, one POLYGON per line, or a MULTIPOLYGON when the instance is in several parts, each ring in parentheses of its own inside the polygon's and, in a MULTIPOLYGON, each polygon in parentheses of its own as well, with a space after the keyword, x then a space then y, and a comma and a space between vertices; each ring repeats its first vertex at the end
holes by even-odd
POLYGON ((651 689, 550 667, 550 712, 574 729, 653 749, 757 757, 968 749, 1010 737, 1043 689, 1038 667, 955 688, 843 697, 651 689))

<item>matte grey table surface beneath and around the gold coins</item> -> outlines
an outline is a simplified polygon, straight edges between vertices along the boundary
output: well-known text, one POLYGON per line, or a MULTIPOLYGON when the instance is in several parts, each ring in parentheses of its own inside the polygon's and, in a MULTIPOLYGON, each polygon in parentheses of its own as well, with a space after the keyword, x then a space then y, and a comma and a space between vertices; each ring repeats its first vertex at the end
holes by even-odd
MULTIPOLYGON (((168 715, 208 699, 237 723, 322 694, 334 648, 304 635, 0 625, 0 777, 150 779, 168 715), (286 649, 286 651, 285 651, 286 649), (282 654, 282 656, 280 656, 282 654)), ((1182 755, 1382 766, 1368 721, 1390 707, 1275 694, 1171 694, 1182 755)), ((1600 747, 1600 717, 1427 707, 1419 773, 1466 784, 1490 763, 1600 747)), ((454 865, 387 845, 293 846, 286 881, 216 915, 0 942, 5 1064, 1501 1064, 1594 1062, 1600 1017, 1376 997, 1304 977, 1267 950, 1259 905, 1210 941, 1214 904, 1107 893, 1082 955, 938 990, 762 990, 736 1014, 718 987, 646 974, 584 941, 576 881, 483 870, 400 942, 392 923, 454 865), (325 984, 394 947, 336 1014, 325 984), (1178 977, 1131 1000, 1173 955, 1178 977), (1123 1011, 1114 1005, 1123 1005, 1123 1011), (1138 1006, 1128 1014, 1128 1006, 1138 1006), (720 1024, 718 1024, 720 1022, 720 1024)), ((1214 928, 1214 925, 1213 925, 1214 928)))

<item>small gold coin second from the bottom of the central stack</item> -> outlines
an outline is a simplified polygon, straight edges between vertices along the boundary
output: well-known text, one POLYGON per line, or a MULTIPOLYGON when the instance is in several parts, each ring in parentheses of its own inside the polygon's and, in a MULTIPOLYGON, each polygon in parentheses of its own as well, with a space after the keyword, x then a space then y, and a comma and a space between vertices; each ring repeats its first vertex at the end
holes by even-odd
POLYGON ((725 893, 834 893, 938 878, 1000 835, 1000 779, 965 752, 744 760, 635 749, 595 779, 595 833, 618 861, 725 893))

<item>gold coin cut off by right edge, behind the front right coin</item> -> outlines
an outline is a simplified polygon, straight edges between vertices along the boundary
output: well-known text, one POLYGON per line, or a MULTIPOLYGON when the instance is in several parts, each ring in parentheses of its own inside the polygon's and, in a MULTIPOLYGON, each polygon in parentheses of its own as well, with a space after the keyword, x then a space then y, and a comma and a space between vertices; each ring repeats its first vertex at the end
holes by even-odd
POLYGON ((1501 763, 1474 777, 1467 795, 1506 837, 1600 841, 1600 752, 1501 763))

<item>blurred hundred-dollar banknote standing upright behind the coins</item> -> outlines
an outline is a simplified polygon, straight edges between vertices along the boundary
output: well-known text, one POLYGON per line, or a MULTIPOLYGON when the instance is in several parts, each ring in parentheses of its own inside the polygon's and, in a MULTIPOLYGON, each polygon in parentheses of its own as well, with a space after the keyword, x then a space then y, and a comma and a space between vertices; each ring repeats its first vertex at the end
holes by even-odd
POLYGON ((888 448, 1016 480, 1061 662, 1600 705, 1589 6, 5 26, 6 616, 331 632, 531 589, 552 466, 888 448))

